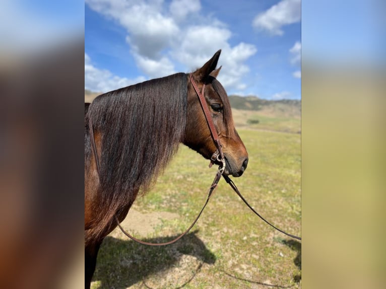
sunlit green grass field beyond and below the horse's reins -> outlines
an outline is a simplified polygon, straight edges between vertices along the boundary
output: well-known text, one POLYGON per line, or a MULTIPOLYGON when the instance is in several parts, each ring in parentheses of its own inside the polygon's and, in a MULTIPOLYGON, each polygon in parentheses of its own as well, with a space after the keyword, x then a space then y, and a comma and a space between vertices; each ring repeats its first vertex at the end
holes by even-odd
MULTIPOLYGON (((278 130, 283 130, 283 119, 260 119, 259 124, 278 125, 278 130)), ((254 125, 238 132, 247 148, 249 163, 244 175, 232 178, 233 181, 265 218, 300 235, 300 134, 260 131, 254 125)), ((204 204, 215 175, 216 169, 209 169, 208 164, 181 145, 156 185, 133 205, 142 213, 168 211, 177 213, 179 218, 163 221, 154 232, 140 237, 158 242, 170 240, 190 225, 204 204)), ((159 248, 142 246, 125 237, 107 237, 92 287, 301 287, 300 242, 261 221, 224 180, 193 230, 174 245, 159 248)))

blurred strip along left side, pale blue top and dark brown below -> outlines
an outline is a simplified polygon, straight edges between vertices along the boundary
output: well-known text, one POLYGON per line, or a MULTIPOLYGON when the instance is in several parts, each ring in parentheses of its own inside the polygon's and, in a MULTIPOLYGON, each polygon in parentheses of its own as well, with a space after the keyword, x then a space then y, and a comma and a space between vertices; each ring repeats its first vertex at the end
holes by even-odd
POLYGON ((83 4, 0 6, 0 287, 82 288, 83 4))

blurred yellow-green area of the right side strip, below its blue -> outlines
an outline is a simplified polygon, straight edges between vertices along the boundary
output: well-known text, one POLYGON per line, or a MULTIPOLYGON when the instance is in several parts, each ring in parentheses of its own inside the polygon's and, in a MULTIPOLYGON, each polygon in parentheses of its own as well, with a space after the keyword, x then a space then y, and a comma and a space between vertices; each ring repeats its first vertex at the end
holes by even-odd
POLYGON ((383 287, 385 76, 381 68, 355 63, 303 65, 306 288, 383 287))

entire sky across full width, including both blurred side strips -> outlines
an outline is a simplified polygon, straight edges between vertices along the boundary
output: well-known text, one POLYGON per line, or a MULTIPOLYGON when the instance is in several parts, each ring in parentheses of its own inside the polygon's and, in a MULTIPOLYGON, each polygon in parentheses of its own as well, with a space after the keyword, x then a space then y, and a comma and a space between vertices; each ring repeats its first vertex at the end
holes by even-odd
POLYGON ((300 99, 300 55, 385 66, 385 9, 383 0, 3 0, 0 56, 84 35, 85 88, 105 92, 189 73, 222 49, 228 94, 300 99))

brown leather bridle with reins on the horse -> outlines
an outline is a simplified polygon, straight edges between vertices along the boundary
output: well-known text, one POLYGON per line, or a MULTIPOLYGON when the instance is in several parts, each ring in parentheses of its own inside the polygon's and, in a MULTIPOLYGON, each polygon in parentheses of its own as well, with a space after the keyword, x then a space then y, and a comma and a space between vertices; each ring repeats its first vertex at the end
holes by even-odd
MULTIPOLYGON (((195 89, 198 97, 199 97, 199 100, 200 100, 200 103, 201 103, 201 107, 203 108, 203 111, 204 111, 204 114, 205 114, 205 118, 208 122, 208 126, 209 126, 209 130, 211 132, 211 135, 213 137, 213 141, 215 143, 215 146, 217 148, 217 150, 213 153, 212 157, 211 157, 211 163, 209 164, 209 167, 212 167, 212 165, 217 161, 217 162, 220 162, 220 166, 219 166, 219 169, 217 170, 216 172, 216 176, 209 188, 209 193, 208 193, 208 197, 204 203, 204 206, 203 208, 201 209, 201 211, 199 212, 199 214, 197 215, 196 219, 192 222, 192 224, 189 226, 189 228, 187 228, 187 230, 185 232, 183 232, 181 235, 179 235, 177 238, 169 241, 169 242, 164 242, 164 243, 149 243, 149 242, 145 242, 145 241, 142 241, 142 240, 139 240, 135 237, 133 237, 132 235, 130 235, 128 232, 126 232, 122 226, 120 225, 120 222, 118 220, 118 217, 117 215, 115 214, 114 215, 114 218, 115 218, 115 221, 119 227, 119 229, 122 231, 122 233, 124 235, 126 235, 128 238, 132 239, 133 241, 135 242, 138 242, 140 244, 143 244, 143 245, 149 245, 149 246, 164 246, 164 245, 170 245, 170 244, 173 244, 175 243, 176 241, 178 241, 179 239, 181 239, 183 236, 185 236, 191 228, 193 228, 195 226, 195 224, 197 223, 197 221, 200 219, 200 216, 202 214, 202 212, 204 211, 205 207, 207 206, 208 202, 209 202, 209 199, 211 198, 214 190, 216 189, 217 187, 217 184, 218 182, 220 181, 221 179, 221 176, 224 177, 225 181, 230 185, 230 187, 237 193, 237 195, 241 198, 241 200, 256 214, 259 216, 259 218, 261 218, 264 222, 266 222, 268 225, 270 225, 271 227, 275 228, 276 230, 278 230, 279 232, 291 237, 291 238, 295 238, 297 240, 301 240, 300 237, 298 236, 295 236, 295 235, 291 235, 291 234, 288 234, 286 233, 285 231, 283 230, 280 230, 278 229, 277 227, 275 227, 274 225, 272 225, 270 222, 268 222, 266 219, 263 218, 263 216, 261 216, 257 211, 255 211, 252 206, 250 206, 248 204, 248 202, 245 200, 245 198, 241 195, 241 193, 239 192, 239 190, 237 189, 236 185, 234 184, 234 182, 228 177, 228 176, 225 176, 223 175, 223 172, 225 170, 225 157, 224 157, 224 153, 222 151, 222 144, 221 144, 221 141, 220 141, 220 138, 218 136, 218 133, 217 133, 217 130, 216 130, 216 127, 213 123, 213 119, 212 119, 212 116, 211 116, 211 113, 209 111, 209 108, 208 108, 208 104, 205 100, 205 97, 204 97, 204 91, 205 91, 205 83, 203 83, 203 87, 202 87, 202 90, 201 90, 201 93, 200 93, 200 90, 196 84, 196 82, 194 81, 193 79, 193 76, 192 74, 189 74, 189 79, 190 79, 190 83, 191 85, 193 86, 193 88, 195 89)), ((91 139, 91 149, 93 151, 93 154, 94 154, 94 158, 95 158, 95 163, 96 163, 96 168, 97 168, 97 171, 98 171, 98 176, 100 176, 100 166, 99 166, 99 159, 98 159, 98 155, 97 155, 97 150, 96 150, 96 146, 95 146, 95 140, 94 140, 94 129, 93 129, 93 125, 92 125, 92 121, 91 121, 91 118, 89 118, 89 129, 90 129, 90 139, 91 139)))

